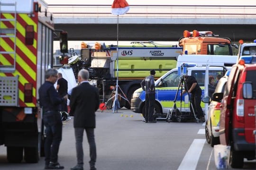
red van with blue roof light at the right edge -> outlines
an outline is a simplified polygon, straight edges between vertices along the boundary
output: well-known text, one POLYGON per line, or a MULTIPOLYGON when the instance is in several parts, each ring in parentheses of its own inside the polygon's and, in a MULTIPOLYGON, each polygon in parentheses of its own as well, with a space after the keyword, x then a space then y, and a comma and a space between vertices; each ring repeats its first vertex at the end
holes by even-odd
POLYGON ((241 57, 232 66, 224 93, 214 93, 221 102, 220 144, 230 145, 230 165, 242 168, 244 158, 255 159, 256 56, 241 57))

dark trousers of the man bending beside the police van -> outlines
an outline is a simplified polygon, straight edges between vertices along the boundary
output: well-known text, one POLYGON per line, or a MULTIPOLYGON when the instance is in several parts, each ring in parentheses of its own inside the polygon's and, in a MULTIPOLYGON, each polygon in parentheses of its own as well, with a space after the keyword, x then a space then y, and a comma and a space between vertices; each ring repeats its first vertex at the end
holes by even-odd
MULTIPOLYGON (((195 114, 197 114, 197 118, 200 119, 204 117, 203 110, 201 108, 201 89, 196 90, 194 93, 191 93, 191 103, 194 107, 195 114)), ((192 106, 190 104, 190 111, 192 112, 192 106)))

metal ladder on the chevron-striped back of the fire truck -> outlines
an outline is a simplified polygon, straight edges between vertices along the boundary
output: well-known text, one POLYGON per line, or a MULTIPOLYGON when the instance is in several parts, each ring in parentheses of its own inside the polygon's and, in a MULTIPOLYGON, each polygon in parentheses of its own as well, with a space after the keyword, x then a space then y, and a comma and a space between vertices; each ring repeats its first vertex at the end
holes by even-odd
POLYGON ((14 72, 16 68, 17 4, 0 2, 0 71, 14 72), (12 15, 7 15, 12 13, 12 15), (11 27, 6 24, 12 25, 11 27), (13 41, 13 45, 6 40, 13 41), (4 45, 6 44, 6 45, 4 45), (5 49, 5 48, 6 49, 5 49), (9 47, 9 48, 8 48, 9 47), (2 59, 2 61, 1 61, 2 59))

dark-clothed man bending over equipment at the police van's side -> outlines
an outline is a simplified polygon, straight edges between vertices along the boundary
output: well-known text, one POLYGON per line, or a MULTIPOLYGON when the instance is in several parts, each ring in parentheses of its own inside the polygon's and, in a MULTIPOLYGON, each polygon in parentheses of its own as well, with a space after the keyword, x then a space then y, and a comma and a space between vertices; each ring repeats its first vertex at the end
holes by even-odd
MULTIPOLYGON (((205 121, 204 113, 203 113, 203 110, 200 105, 202 90, 201 90, 200 86, 198 85, 194 76, 186 75, 186 76, 184 76, 184 78, 185 78, 185 83, 186 83, 185 87, 187 87, 187 89, 185 88, 182 93, 183 94, 186 92, 191 93, 190 102, 193 105, 195 114, 197 114, 198 119, 200 119, 202 122, 204 122, 205 121)), ((190 104, 190 111, 192 112, 193 110, 192 110, 191 104, 190 104)))

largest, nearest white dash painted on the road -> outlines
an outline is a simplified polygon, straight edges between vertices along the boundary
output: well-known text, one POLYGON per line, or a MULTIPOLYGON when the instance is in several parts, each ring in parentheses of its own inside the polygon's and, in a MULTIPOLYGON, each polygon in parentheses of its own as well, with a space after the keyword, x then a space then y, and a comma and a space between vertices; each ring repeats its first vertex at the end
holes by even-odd
POLYGON ((194 139, 185 154, 178 170, 195 170, 200 158, 205 139, 194 139))

